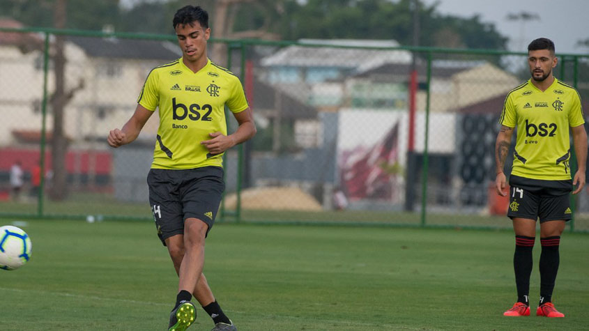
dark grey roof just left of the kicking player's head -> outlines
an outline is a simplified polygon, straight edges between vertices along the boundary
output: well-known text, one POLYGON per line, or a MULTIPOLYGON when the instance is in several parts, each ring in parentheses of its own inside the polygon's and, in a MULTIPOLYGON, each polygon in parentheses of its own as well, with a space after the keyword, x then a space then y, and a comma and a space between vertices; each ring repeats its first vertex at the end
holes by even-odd
POLYGON ((178 46, 169 41, 79 36, 69 36, 68 41, 94 57, 172 61, 182 55, 178 46))

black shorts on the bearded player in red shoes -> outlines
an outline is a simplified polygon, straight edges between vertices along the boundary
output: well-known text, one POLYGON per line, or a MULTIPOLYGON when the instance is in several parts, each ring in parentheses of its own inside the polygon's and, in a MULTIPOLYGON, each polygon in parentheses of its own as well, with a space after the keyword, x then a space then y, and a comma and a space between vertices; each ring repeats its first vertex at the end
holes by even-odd
POLYGON ((540 218, 540 223, 571 219, 571 180, 539 180, 512 175, 510 187, 507 217, 540 218))

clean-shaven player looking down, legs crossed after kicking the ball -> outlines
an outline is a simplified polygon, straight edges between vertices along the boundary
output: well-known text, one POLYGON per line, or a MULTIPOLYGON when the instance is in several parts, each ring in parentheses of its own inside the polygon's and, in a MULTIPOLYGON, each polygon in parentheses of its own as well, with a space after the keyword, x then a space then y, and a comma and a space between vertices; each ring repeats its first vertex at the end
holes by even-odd
POLYGON ((158 236, 179 277, 169 330, 185 330, 196 319, 192 295, 213 318, 213 330, 237 330, 202 273, 204 245, 224 190, 222 154, 253 137, 256 127, 238 77, 206 55, 208 13, 185 6, 174 15, 173 25, 183 56, 149 72, 135 113, 121 130, 111 130, 107 141, 114 148, 134 141, 159 109, 147 182, 158 236), (229 135, 225 105, 239 124, 229 135))

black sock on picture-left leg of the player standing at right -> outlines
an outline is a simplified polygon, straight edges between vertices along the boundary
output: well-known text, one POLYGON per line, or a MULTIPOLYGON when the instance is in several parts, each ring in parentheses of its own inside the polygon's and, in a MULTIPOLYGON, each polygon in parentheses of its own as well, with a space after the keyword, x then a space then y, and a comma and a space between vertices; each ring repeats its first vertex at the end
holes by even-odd
POLYGON ((515 253, 513 255, 513 269, 515 285, 517 287, 517 302, 530 305, 530 275, 532 275, 532 249, 534 237, 515 236, 515 253))

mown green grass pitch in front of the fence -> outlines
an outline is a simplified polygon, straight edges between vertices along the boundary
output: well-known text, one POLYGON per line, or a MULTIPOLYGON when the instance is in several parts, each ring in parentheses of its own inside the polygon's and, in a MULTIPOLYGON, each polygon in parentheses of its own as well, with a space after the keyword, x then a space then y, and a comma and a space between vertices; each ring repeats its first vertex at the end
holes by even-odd
MULTIPOLYGON (((153 224, 28 222, 31 261, 0 270, 0 330, 165 330, 177 278, 153 224)), ((587 330, 589 236, 563 236, 558 320, 501 316, 513 247, 511 231, 218 224, 205 274, 239 330, 587 330)), ((198 313, 190 330, 210 330, 198 313)))

